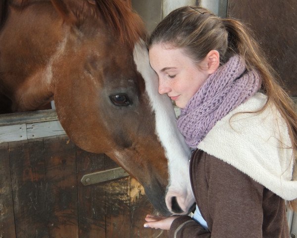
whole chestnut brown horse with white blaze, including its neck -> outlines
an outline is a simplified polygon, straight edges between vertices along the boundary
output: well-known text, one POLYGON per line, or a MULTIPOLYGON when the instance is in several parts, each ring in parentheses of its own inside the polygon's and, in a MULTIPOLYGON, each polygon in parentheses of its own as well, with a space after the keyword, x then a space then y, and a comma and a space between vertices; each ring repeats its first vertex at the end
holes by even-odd
POLYGON ((4 0, 2 110, 54 100, 69 139, 105 153, 144 187, 163 215, 188 214, 190 149, 170 99, 157 92, 140 16, 123 0, 4 0))

